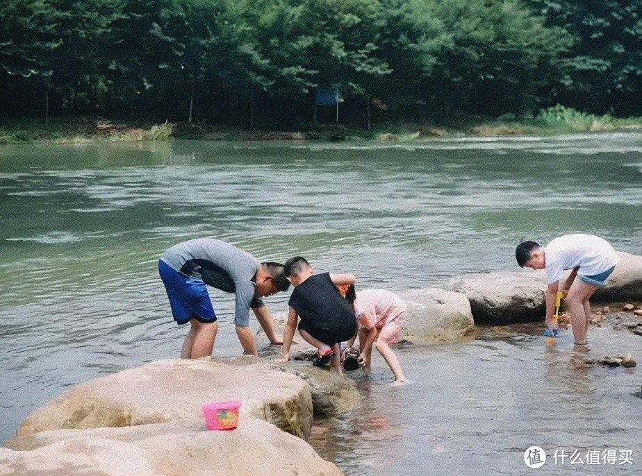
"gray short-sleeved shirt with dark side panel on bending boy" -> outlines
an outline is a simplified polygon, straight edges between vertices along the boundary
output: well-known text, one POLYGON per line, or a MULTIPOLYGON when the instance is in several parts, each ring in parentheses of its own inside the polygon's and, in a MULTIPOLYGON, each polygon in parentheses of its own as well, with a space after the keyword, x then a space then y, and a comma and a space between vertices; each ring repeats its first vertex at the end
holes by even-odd
POLYGON ((249 309, 262 307, 256 294, 254 276, 258 260, 225 241, 197 238, 172 246, 161 256, 172 269, 196 278, 211 287, 236 293, 234 323, 247 327, 249 309))

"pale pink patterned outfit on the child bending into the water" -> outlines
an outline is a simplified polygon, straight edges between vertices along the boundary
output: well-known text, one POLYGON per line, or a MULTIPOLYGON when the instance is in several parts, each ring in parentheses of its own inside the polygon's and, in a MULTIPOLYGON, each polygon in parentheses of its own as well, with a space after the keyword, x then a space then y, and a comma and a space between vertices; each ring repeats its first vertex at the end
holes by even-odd
POLYGON ((404 300, 386 289, 364 289, 357 291, 354 300, 354 314, 359 327, 381 329, 379 339, 386 343, 397 343, 401 339, 401 324, 408 310, 404 300))

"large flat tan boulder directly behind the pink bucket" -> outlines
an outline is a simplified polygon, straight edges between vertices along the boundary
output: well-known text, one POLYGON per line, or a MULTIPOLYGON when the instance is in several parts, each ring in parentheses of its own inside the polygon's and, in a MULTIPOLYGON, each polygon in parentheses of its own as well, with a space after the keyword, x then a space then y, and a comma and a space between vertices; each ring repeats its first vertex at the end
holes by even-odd
POLYGON ((240 413, 307 439, 312 398, 303 380, 263 364, 171 359, 79 384, 30 414, 17 436, 59 428, 203 425, 201 404, 241 400, 240 413))

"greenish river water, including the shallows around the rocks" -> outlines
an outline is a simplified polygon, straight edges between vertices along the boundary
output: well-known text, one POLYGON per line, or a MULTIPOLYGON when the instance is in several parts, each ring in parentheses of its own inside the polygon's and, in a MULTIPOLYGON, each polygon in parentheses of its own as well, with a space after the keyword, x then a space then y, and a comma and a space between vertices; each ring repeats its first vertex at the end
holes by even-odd
MULTIPOLYGON (((354 273, 360 289, 402 291, 514 270, 520 241, 568 232, 642 254, 641 205, 641 133, 3 146, 0 441, 69 385, 179 355, 186 329, 156 264, 183 239, 217 237, 261 260, 304 255, 354 273)), ((288 297, 268 307, 284 311, 288 297)), ((214 355, 238 355, 233 299, 213 301, 214 355)), ((400 388, 376 355, 372 379, 353 375, 363 407, 311 442, 350 475, 516 474, 530 445, 547 450, 551 473, 642 470, 638 368, 587 368, 570 337, 549 349, 540 334, 480 328, 475 341, 402 348, 414 383, 400 388), (554 465, 554 450, 630 450, 634 465, 554 465)), ((594 357, 642 362, 637 336, 589 338, 594 357)))

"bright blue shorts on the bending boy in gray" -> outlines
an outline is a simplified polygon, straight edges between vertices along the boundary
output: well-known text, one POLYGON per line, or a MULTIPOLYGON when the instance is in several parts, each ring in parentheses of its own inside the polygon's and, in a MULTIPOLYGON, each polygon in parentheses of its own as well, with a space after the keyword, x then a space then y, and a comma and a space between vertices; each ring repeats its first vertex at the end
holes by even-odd
POLYGON ((201 280, 179 273, 164 261, 158 261, 158 274, 170 298, 174 321, 186 324, 191 318, 202 323, 216 321, 207 286, 201 280))

